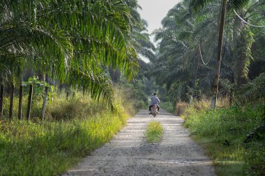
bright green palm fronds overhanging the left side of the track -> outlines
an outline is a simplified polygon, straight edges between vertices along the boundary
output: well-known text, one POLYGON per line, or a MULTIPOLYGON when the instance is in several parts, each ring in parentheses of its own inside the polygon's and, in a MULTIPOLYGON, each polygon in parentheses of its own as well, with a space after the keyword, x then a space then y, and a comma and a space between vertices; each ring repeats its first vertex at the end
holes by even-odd
POLYGON ((21 84, 31 69, 112 107, 107 68, 131 80, 139 70, 137 54, 153 57, 137 8, 137 0, 1 0, 1 91, 4 83, 21 84))

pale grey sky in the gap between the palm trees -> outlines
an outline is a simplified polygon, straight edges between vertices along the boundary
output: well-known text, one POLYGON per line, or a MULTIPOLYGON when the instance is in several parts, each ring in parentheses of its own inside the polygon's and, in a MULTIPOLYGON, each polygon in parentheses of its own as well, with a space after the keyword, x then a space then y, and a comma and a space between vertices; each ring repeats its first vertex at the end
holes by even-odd
POLYGON ((138 0, 142 10, 139 13, 148 22, 149 33, 159 29, 162 19, 167 15, 168 10, 173 8, 180 0, 138 0))

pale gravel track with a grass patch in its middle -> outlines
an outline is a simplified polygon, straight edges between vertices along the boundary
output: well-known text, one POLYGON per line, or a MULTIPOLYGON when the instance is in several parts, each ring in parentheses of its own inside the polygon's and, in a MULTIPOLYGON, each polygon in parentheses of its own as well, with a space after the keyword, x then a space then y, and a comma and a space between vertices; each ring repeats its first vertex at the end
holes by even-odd
POLYGON ((146 110, 128 120, 116 136, 91 156, 84 158, 66 175, 215 175, 211 160, 190 139, 183 120, 161 110, 151 118, 146 110), (164 136, 160 144, 144 143, 146 125, 161 122, 164 136))

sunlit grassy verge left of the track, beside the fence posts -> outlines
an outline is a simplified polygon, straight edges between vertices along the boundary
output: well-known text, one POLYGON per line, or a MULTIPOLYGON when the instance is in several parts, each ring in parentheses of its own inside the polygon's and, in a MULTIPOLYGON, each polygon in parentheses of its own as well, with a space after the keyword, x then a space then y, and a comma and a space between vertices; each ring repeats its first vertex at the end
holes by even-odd
POLYGON ((43 122, 34 113, 32 122, 1 120, 0 175, 63 173, 126 125, 128 111, 134 111, 133 102, 124 104, 128 101, 123 101, 122 94, 115 95, 115 112, 89 97, 76 95, 66 101, 63 95, 47 106, 43 122))

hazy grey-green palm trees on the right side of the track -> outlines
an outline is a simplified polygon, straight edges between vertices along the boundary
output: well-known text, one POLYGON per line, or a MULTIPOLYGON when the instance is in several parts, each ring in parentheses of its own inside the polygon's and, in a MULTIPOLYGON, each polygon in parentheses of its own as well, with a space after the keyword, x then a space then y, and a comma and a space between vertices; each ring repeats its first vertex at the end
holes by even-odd
POLYGON ((234 10, 265 26, 264 1, 185 0, 169 10, 154 32, 160 45, 151 74, 167 85, 174 101, 203 93, 213 97, 214 107, 219 78, 241 87, 264 72, 264 29, 245 24, 234 10), (259 70, 252 67, 257 62, 259 70))

